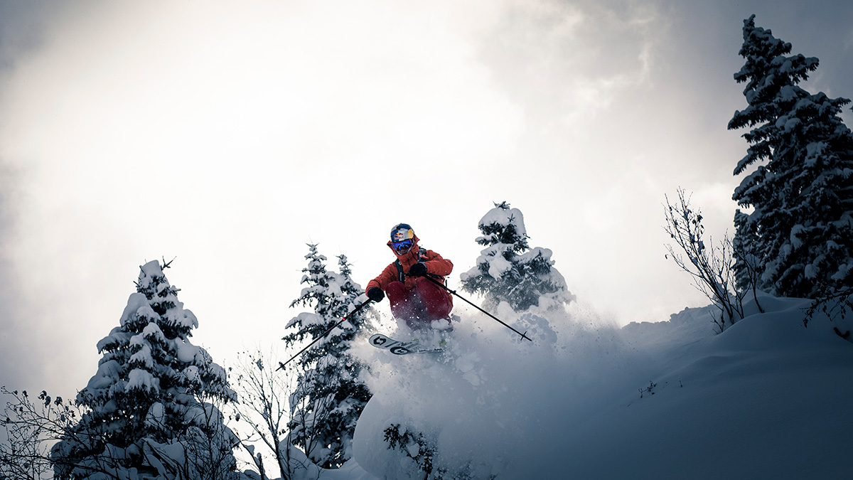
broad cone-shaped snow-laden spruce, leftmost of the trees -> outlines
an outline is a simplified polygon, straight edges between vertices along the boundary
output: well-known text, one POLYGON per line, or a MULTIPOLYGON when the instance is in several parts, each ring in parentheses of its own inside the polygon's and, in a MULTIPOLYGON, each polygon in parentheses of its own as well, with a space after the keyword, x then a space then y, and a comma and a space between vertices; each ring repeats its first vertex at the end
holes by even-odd
MULTIPOLYGON (((168 266, 168 264, 165 264, 168 266)), ((85 411, 52 450, 55 477, 224 479, 236 438, 218 405, 235 399, 222 367, 189 342, 198 320, 157 261, 141 267, 119 326, 97 343, 85 411)))

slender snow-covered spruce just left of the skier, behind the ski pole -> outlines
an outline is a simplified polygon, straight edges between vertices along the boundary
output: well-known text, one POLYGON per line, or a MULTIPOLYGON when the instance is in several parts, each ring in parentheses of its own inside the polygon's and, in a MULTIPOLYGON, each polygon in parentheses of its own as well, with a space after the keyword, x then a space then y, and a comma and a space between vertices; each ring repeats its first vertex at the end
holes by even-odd
MULTIPOLYGON (((352 281, 351 265, 339 255, 339 272, 327 272, 325 256, 309 244, 308 266, 302 271, 302 289, 291 307, 313 307, 287 323, 293 333, 284 337, 288 347, 298 347, 305 339, 314 340, 350 313, 364 290, 352 281)), ((352 435, 364 405, 370 399, 367 386, 359 380, 362 366, 348 353, 357 327, 365 315, 351 315, 348 321, 317 342, 298 360, 299 380, 290 396, 293 420, 288 424, 292 441, 308 458, 324 468, 337 468, 351 458, 352 435)))

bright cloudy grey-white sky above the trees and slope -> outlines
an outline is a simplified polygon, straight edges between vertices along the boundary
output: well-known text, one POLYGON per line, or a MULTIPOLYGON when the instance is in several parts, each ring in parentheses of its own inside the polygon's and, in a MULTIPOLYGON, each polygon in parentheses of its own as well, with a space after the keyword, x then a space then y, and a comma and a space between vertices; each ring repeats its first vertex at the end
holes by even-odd
POLYGON ((731 230, 751 14, 853 97, 844 1, 0 0, 0 383, 82 389, 147 260, 221 365, 281 342, 306 243, 365 285, 406 222, 453 286, 493 202, 602 322, 703 306, 664 195, 731 230))

